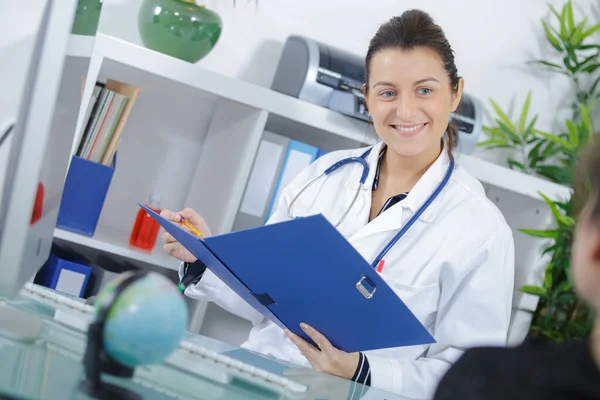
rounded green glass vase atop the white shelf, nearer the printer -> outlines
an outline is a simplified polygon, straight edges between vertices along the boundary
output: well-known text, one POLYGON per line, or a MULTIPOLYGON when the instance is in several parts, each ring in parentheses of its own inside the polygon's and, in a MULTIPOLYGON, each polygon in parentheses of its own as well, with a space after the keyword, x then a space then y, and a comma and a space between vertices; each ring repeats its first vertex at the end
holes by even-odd
POLYGON ((223 21, 193 0, 143 0, 138 28, 148 49, 195 63, 215 47, 223 21))

